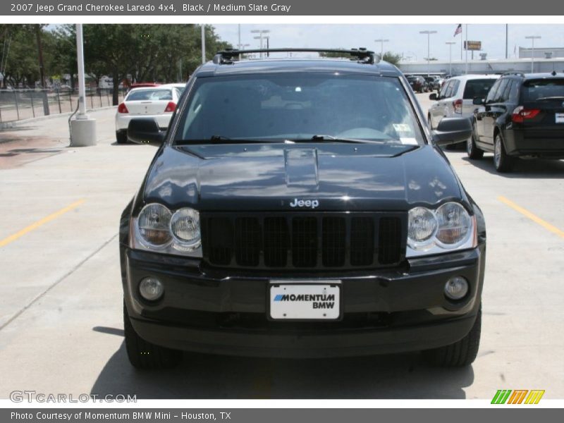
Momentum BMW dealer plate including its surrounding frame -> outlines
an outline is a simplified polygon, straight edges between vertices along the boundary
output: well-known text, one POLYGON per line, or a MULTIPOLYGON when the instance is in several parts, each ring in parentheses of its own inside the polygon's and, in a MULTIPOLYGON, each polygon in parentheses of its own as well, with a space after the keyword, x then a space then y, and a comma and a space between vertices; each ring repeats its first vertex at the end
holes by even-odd
POLYGON ((340 321, 342 308, 341 281, 270 281, 266 292, 266 317, 270 321, 340 321), (295 298, 282 300, 280 295, 295 295, 295 298), (298 300, 298 295, 326 296, 316 301, 298 300), (333 295, 332 300, 329 295, 333 295), (313 308, 314 302, 325 305, 313 308), (329 307, 331 302, 333 306, 329 307))

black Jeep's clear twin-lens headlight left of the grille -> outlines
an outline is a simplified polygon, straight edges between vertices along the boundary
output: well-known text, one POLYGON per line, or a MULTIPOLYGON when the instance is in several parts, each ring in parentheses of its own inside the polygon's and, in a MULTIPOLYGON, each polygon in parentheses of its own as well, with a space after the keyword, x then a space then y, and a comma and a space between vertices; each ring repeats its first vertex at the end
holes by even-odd
POLYGON ((202 257, 200 213, 184 207, 171 212, 163 204, 151 203, 130 222, 130 247, 166 254, 202 257))

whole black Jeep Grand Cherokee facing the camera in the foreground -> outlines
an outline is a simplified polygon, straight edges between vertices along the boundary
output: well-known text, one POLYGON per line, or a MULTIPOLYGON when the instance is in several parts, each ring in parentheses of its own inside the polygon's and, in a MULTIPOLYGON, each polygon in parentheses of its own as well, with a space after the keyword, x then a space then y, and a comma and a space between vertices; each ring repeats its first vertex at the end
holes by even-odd
POLYGON ((135 367, 180 350, 476 357, 484 218, 437 147, 470 137, 470 121, 431 132, 397 68, 342 52, 352 59, 223 51, 166 133, 131 121, 131 140, 159 145, 121 216, 135 367))

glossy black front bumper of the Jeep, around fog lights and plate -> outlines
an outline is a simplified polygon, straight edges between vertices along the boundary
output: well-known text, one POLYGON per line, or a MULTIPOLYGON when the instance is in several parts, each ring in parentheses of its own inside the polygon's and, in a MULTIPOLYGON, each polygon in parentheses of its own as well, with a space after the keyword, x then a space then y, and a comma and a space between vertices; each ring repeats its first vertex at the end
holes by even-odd
MULTIPOLYGON (((135 331, 157 345, 200 353, 259 357, 335 357, 425 350, 455 343, 472 328, 484 278, 485 244, 412 259, 403 269, 288 275, 341 281, 340 321, 270 321, 270 278, 203 269, 200 261, 121 245, 125 304, 135 331), (139 281, 159 278, 164 297, 140 298, 139 281), (443 287, 464 276, 470 293, 450 302, 443 287)), ((278 275, 273 278, 279 279, 278 275)))

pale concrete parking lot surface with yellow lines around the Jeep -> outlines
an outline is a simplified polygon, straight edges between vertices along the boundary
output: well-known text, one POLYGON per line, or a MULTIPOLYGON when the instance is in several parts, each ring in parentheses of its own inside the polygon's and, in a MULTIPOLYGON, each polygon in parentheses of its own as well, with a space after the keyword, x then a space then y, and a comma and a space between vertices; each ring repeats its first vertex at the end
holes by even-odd
MULTIPOLYGON (((428 94, 417 94, 425 111, 428 94)), ((479 357, 280 360, 186 354, 138 372, 123 345, 118 221, 155 148, 117 145, 114 109, 95 147, 68 147, 66 117, 0 131, 0 398, 11 391, 137 398, 484 398, 501 388, 564 398, 564 161, 446 152, 488 230, 479 357)))

